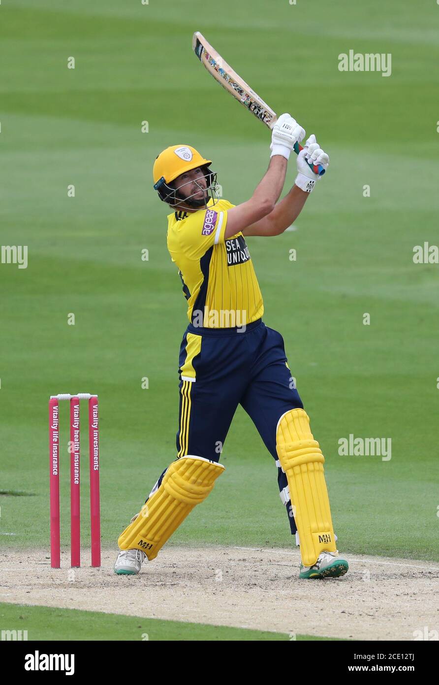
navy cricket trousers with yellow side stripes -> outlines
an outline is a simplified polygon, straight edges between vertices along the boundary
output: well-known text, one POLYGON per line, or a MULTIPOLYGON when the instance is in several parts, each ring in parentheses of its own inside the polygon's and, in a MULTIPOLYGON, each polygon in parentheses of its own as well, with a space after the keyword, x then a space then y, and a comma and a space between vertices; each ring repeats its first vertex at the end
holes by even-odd
MULTIPOLYGON (((303 409, 280 333, 262 319, 248 324, 245 332, 189 324, 181 343, 178 375, 177 459, 189 454, 219 462, 230 423, 241 404, 278 463, 276 429, 280 416, 291 409, 303 409)), ((280 493, 287 487, 287 476, 279 463, 278 486, 280 493)), ((291 501, 284 503, 291 533, 295 534, 291 501)))

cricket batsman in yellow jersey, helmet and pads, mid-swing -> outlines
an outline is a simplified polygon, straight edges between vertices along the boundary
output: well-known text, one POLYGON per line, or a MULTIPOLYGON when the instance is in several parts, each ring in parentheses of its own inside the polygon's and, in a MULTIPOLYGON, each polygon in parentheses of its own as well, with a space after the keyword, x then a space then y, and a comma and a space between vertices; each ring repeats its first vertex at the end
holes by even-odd
POLYGON ((172 209, 168 250, 181 279, 189 325, 179 358, 176 459, 120 535, 118 574, 139 573, 207 498, 224 471, 221 449, 238 404, 276 462, 280 499, 300 545, 300 577, 347 572, 347 561, 336 549, 323 454, 295 388, 284 340, 263 323, 263 298, 245 240, 284 232, 321 182, 308 162, 327 169, 329 157, 312 135, 297 155, 293 188, 278 202, 291 150, 304 137, 295 119, 280 116, 267 172, 252 197, 237 206, 218 197, 212 162, 193 147, 168 147, 155 160, 154 188, 172 209))

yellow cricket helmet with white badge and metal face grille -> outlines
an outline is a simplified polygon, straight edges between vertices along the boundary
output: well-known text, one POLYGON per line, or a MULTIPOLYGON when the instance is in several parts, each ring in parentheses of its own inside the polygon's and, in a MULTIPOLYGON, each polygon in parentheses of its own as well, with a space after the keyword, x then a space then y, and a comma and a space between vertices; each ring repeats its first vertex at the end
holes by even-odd
MULTIPOLYGON (((198 166, 206 167, 207 187, 209 188, 216 181, 216 174, 211 173, 208 168, 212 160, 206 160, 198 150, 190 145, 171 145, 161 152, 152 169, 154 179, 154 190, 159 193, 159 198, 170 205, 176 205, 176 191, 168 186, 177 176, 198 169, 198 166)), ((190 203, 190 202, 189 202, 190 203)))

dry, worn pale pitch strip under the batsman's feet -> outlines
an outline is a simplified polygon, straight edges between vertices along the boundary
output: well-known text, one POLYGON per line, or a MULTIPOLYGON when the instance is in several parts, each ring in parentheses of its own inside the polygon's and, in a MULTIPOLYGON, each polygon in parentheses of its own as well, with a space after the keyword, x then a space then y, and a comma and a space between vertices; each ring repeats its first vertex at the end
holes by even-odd
POLYGON ((357 640, 412 640, 438 630, 439 564, 347 557, 339 579, 300 580, 299 553, 166 547, 138 576, 117 576, 116 551, 91 569, 51 569, 46 550, 0 554, 0 601, 357 640))

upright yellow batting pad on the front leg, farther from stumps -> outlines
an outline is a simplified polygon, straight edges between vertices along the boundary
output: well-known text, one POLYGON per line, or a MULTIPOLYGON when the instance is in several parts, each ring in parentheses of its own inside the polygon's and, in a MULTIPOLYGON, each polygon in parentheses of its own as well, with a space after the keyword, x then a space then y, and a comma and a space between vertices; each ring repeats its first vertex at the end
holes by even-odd
POLYGON ((336 551, 336 544, 323 473, 325 458, 303 409, 292 409, 281 416, 276 450, 295 508, 302 564, 312 566, 322 551, 336 551))

